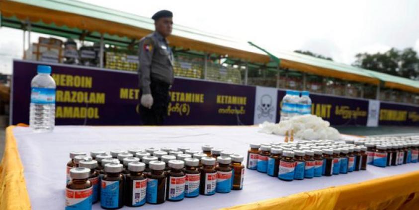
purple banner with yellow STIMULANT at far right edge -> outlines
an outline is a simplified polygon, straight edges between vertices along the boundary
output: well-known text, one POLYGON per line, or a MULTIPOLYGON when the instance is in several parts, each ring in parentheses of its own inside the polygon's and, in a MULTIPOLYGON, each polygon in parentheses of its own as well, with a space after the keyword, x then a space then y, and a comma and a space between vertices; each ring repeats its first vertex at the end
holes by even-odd
POLYGON ((419 126, 419 106, 381 102, 378 124, 419 126))

